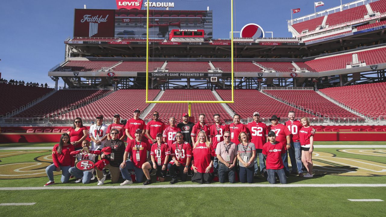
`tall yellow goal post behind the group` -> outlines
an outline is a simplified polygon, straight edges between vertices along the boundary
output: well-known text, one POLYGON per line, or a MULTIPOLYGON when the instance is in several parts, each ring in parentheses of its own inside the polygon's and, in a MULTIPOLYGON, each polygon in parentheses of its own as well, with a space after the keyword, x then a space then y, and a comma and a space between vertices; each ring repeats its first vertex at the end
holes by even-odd
MULTIPOLYGON (((230 40, 231 40, 231 100, 230 101, 201 101, 201 100, 169 100, 169 101, 150 101, 148 99, 149 92, 149 7, 146 8, 146 103, 188 103, 188 113, 189 116, 191 113, 191 104, 192 103, 234 103, 234 31, 233 31, 233 2, 230 0, 230 40)), ((147 0, 147 5, 149 5, 149 0, 147 0)))

